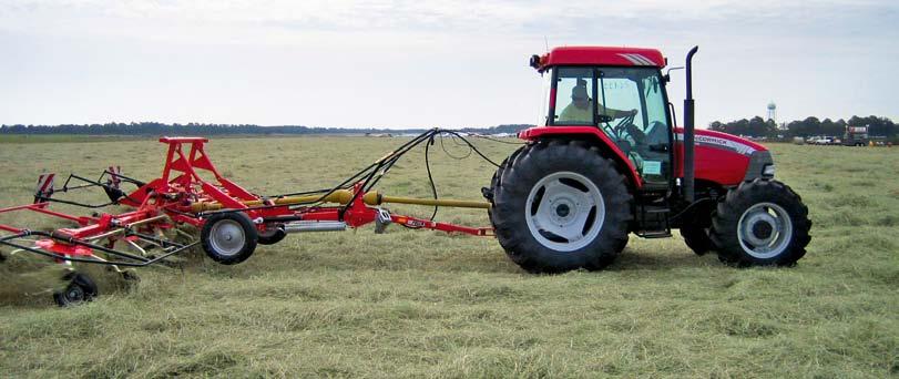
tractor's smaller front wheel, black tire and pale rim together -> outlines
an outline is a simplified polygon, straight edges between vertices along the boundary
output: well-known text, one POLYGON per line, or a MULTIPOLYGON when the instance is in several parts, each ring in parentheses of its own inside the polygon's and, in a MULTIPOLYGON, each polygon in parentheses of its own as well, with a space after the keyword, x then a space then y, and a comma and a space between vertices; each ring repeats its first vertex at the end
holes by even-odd
POLYGON ((790 266, 811 237, 808 208, 789 186, 756 178, 731 190, 712 218, 718 258, 729 265, 790 266))

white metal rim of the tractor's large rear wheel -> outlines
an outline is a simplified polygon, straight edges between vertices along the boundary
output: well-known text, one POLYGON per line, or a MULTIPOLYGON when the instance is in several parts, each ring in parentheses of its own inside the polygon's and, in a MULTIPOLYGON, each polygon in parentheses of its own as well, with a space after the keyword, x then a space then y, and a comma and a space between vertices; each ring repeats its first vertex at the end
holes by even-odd
POLYGON ((563 171, 544 176, 531 188, 524 218, 541 245, 573 252, 600 235, 605 203, 600 188, 586 176, 563 171))

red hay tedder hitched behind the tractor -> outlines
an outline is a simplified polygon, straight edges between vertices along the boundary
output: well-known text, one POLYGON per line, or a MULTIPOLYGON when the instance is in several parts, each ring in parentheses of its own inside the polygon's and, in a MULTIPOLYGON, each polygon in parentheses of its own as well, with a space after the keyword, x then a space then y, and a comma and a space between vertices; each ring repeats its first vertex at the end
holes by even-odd
MULTIPOLYGON (((74 222, 79 227, 48 233, 0 224, 0 229, 12 233, 0 238, 0 244, 14 247, 17 253, 29 252, 61 264, 109 265, 123 275, 132 276, 132 273, 120 267, 152 265, 195 244, 202 244, 212 259, 232 265, 248 258, 257 244, 276 244, 288 233, 343 231, 370 223, 377 224, 378 233, 388 224, 396 223, 409 228, 492 235, 490 227, 474 228, 394 215, 378 207, 382 203, 406 203, 488 208, 490 204, 487 202, 390 197, 368 191, 406 152, 442 133, 456 134, 439 130, 426 132, 334 188, 273 196, 253 194, 222 176, 204 151, 208 140, 162 137, 160 142, 168 145, 162 176, 146 183, 122 175, 119 167, 110 167, 96 181, 71 174, 60 188, 54 187, 53 174, 41 175, 33 204, 2 208, 0 214, 31 211, 74 222), (200 171, 211 173, 215 182, 203 180, 200 171), (136 190, 125 193, 122 191, 123 183, 130 183, 136 190), (110 202, 93 205, 52 197, 54 193, 86 187, 102 187, 110 202), (88 208, 123 205, 134 211, 118 215, 73 216, 50 211, 50 203, 53 202, 88 208), (180 244, 162 233, 175 231, 184 224, 200 229, 198 242, 180 244), (22 239, 29 239, 30 244, 23 244, 22 239), (120 240, 140 254, 114 249, 120 240), (147 247, 161 248, 163 253, 150 255, 147 247)), ((70 279, 69 288, 54 295, 60 305, 79 303, 96 295, 96 287, 86 275, 75 274, 70 279)))

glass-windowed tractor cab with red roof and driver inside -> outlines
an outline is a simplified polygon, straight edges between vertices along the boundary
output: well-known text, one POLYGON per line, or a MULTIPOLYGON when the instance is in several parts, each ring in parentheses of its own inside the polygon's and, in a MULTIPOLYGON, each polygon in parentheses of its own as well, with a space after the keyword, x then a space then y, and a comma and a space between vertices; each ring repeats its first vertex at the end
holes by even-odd
POLYGON ((558 48, 532 57, 531 65, 545 80, 539 125, 599 130, 644 190, 670 187, 672 117, 657 50, 558 48))

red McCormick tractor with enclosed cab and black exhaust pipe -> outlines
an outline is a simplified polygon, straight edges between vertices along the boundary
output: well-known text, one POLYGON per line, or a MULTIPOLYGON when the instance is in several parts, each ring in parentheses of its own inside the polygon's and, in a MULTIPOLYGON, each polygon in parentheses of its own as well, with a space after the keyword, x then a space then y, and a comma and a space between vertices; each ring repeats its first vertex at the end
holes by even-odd
MULTIPOLYGON (((684 127, 657 50, 566 47, 531 57, 545 79, 540 125, 497 170, 484 196, 499 243, 530 272, 607 266, 630 233, 681 235, 696 254, 736 266, 795 264, 808 208, 774 178, 765 146, 694 130, 686 58, 684 127)), ((671 70, 668 70, 671 71, 671 70)))

